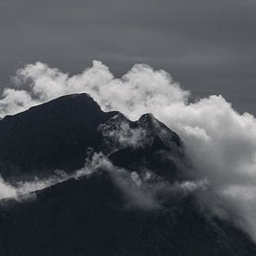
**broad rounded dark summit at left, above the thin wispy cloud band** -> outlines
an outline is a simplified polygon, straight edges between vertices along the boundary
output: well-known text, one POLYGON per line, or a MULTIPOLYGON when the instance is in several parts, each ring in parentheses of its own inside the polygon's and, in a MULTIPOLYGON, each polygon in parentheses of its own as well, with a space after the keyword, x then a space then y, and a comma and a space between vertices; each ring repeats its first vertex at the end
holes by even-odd
POLYGON ((88 147, 99 150, 98 126, 117 112, 104 113, 87 94, 63 96, 0 122, 0 172, 40 175, 81 168, 88 147))

